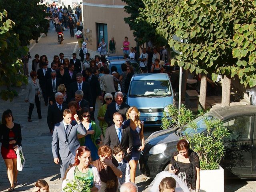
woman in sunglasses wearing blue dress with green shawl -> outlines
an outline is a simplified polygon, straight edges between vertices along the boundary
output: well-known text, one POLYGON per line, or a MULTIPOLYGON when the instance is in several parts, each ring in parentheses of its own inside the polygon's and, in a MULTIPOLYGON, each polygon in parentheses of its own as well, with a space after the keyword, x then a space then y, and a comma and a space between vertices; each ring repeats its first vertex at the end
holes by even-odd
POLYGON ((95 161, 99 158, 99 145, 101 145, 104 140, 101 129, 96 125, 94 121, 90 120, 90 112, 86 107, 82 108, 79 119, 86 129, 86 135, 83 136, 78 134, 78 139, 84 137, 84 146, 91 150, 92 160, 95 161))

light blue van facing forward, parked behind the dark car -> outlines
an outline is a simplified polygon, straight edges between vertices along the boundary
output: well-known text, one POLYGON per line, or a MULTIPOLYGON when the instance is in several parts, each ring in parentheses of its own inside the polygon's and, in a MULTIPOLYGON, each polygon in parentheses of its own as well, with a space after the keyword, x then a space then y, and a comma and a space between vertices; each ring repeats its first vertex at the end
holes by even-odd
POLYGON ((144 73, 132 77, 126 103, 136 106, 144 127, 160 126, 163 111, 174 104, 174 92, 168 74, 144 73))

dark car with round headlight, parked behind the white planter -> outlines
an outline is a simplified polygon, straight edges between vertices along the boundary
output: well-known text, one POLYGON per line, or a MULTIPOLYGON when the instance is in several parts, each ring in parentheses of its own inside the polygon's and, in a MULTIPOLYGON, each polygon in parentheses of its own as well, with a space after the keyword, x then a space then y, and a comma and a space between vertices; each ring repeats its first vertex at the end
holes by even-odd
MULTIPOLYGON (((222 120, 230 130, 230 138, 226 140, 225 146, 227 153, 221 163, 225 175, 256 178, 256 106, 228 106, 211 110, 205 115, 212 121, 222 120)), ((198 132, 206 132, 202 116, 194 122, 198 125, 198 132)), ((145 148, 140 154, 142 174, 154 178, 159 172, 167 171, 176 144, 185 132, 193 135, 194 129, 186 125, 151 134, 145 140, 145 148)))

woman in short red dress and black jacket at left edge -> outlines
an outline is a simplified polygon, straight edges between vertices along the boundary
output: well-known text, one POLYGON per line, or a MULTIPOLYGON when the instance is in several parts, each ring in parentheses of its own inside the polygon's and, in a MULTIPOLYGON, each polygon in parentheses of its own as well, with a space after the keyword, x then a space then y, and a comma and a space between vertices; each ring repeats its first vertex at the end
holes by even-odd
POLYGON ((20 124, 13 122, 11 110, 4 111, 2 115, 2 125, 0 125, 1 154, 7 168, 7 176, 10 181, 8 191, 13 191, 18 184, 17 175, 17 155, 16 150, 21 146, 20 124))

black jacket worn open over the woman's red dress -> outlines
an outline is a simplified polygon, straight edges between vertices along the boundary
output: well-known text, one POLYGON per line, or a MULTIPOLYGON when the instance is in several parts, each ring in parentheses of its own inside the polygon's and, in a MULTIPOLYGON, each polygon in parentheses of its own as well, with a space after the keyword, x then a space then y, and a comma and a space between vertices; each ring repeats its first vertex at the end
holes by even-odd
MULTIPOLYGON (((0 125, 0 142, 2 143, 2 146, 5 148, 9 148, 9 132, 10 132, 10 129, 6 127, 6 125, 4 124, 0 125)), ((14 137, 14 140, 16 140, 15 145, 21 146, 22 136, 21 136, 20 124, 14 123, 12 132, 15 135, 14 137)))

